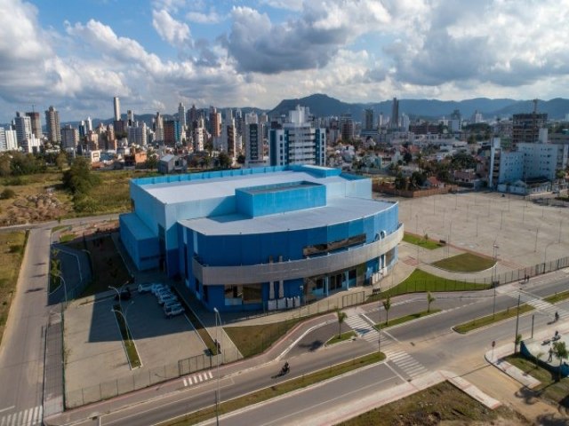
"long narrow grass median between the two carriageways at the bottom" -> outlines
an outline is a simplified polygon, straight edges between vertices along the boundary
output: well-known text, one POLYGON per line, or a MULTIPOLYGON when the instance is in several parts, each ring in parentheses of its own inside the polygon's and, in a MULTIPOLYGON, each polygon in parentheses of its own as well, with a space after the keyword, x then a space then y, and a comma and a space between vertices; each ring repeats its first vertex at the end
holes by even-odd
MULTIPOLYGON (((258 404, 270 398, 276 398, 281 395, 284 395, 285 393, 292 392, 293 390, 306 388, 312 384, 323 382, 337 375, 343 375, 344 373, 356 370, 357 368, 375 364, 376 362, 380 362, 383 359, 385 359, 385 355, 383 353, 374 352, 370 355, 365 355, 364 357, 361 358, 352 359, 351 361, 344 362, 337 366, 326 367, 322 370, 319 370, 309 375, 303 375, 302 377, 288 380, 284 383, 278 383, 265 389, 256 390, 252 393, 244 395, 243 397, 231 399, 227 402, 222 401, 220 404, 219 414, 220 415, 227 414, 232 411, 238 410, 239 408, 243 408, 244 406, 251 406, 252 404, 258 404)), ((291 366, 291 368, 294 368, 294 366, 291 366)), ((275 374, 276 373, 277 372, 275 372, 275 374)), ((211 419, 212 417, 215 417, 214 405, 208 408, 204 408, 203 410, 199 410, 194 413, 184 415, 178 420, 159 423, 159 424, 162 424, 164 426, 190 425, 199 422, 204 422, 205 420, 211 419)))

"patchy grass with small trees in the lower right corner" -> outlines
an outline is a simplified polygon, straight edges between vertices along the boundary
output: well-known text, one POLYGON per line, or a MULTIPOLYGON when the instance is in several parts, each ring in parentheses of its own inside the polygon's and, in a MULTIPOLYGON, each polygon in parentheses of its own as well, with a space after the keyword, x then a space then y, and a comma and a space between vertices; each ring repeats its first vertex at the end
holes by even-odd
MULTIPOLYGON (((547 356, 544 358, 547 358, 547 356)), ((535 359, 526 359, 519 353, 507 357, 506 360, 541 382, 537 388, 533 389, 536 397, 544 398, 555 405, 559 404, 569 408, 569 398, 567 398, 567 395, 569 395, 569 378, 563 377, 557 382, 557 373, 542 367, 541 363, 538 363, 536 366, 535 359)), ((555 359, 554 365, 558 364, 558 360, 555 359)))

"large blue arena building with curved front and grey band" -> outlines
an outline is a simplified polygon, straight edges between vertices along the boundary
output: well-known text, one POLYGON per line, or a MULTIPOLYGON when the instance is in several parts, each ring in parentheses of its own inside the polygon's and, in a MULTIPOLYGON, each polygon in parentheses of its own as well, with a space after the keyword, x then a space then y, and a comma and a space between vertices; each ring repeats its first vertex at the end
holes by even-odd
POLYGON ((372 284, 397 262, 397 202, 372 181, 278 166, 131 181, 120 235, 140 270, 181 278, 209 309, 282 309, 372 284))

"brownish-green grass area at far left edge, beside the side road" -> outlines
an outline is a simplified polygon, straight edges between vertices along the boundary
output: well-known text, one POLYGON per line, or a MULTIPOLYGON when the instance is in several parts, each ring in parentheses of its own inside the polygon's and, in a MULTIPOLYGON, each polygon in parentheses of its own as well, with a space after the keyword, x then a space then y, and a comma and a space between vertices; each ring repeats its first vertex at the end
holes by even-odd
POLYGON ((18 283, 21 259, 26 248, 27 234, 24 231, 0 233, 0 343, 12 305, 12 297, 18 283))

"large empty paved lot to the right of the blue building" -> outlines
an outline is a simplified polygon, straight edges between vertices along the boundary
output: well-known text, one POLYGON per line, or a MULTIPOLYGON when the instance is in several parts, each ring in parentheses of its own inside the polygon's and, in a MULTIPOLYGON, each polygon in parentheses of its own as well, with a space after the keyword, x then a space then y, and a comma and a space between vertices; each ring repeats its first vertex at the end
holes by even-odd
MULTIPOLYGON (((522 196, 501 193, 434 195, 399 199, 399 220, 405 232, 445 240, 461 248, 493 256, 500 264, 520 269, 569 254, 569 209, 541 206, 522 196)), ((420 250, 429 256, 430 250, 420 250)), ((437 250, 436 250, 437 251, 437 250)), ((424 258, 429 261, 428 258, 424 258)))

